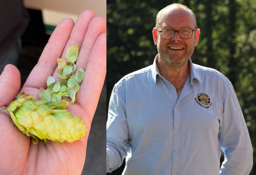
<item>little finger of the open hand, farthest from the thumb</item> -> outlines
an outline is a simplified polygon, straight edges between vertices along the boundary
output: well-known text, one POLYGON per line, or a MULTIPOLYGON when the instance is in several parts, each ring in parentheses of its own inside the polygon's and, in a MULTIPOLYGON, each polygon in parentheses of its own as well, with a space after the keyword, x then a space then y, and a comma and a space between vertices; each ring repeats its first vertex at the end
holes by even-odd
MULTIPOLYGON (((85 70, 85 77, 76 96, 79 105, 86 116, 85 122, 93 119, 102 86, 106 76, 106 33, 101 34, 90 53, 85 70)), ((87 122, 87 123, 88 123, 87 122)))

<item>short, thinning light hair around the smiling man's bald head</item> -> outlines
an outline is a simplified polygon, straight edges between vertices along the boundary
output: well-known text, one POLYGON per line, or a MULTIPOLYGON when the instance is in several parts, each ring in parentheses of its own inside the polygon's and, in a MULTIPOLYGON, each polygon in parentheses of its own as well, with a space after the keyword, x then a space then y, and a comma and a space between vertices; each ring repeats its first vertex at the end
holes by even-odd
POLYGON ((160 26, 160 23, 162 22, 162 13, 163 11, 165 11, 166 9, 168 9, 171 6, 175 6, 175 9, 179 9, 179 10, 186 10, 189 13, 191 13, 194 18, 195 18, 195 29, 197 29, 197 20, 196 20, 196 15, 192 12, 192 10, 190 10, 186 5, 183 4, 178 4, 178 3, 174 3, 171 5, 166 6, 165 8, 163 8, 162 10, 160 10, 156 16, 156 28, 158 29, 158 27, 160 26))

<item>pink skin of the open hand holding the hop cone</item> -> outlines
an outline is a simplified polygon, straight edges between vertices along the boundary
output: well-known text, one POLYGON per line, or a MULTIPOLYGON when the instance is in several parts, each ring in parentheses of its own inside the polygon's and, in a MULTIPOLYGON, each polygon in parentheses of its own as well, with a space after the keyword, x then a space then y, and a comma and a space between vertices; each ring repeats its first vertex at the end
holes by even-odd
MULTIPOLYGON (((80 14, 76 23, 63 19, 51 35, 42 55, 31 71, 21 92, 39 99, 40 87, 46 79, 57 76, 57 58, 65 59, 69 46, 79 46, 77 68, 83 67, 85 77, 74 104, 66 109, 81 116, 90 130, 106 74, 106 20, 92 11, 80 14)), ((0 76, 0 110, 6 109, 20 89, 20 73, 14 65, 7 65, 0 76)), ((37 145, 13 124, 10 114, 0 113, 1 174, 81 174, 86 156, 87 133, 73 143, 48 140, 37 145)))

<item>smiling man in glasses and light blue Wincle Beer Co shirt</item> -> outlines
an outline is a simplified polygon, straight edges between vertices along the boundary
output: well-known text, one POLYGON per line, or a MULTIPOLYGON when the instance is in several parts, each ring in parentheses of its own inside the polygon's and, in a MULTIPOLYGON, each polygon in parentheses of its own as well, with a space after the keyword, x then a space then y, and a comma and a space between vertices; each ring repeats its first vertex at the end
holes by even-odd
POLYGON ((252 145, 232 84, 191 62, 199 33, 184 5, 158 13, 153 65, 125 76, 112 91, 107 172, 126 157, 127 175, 250 173, 252 145))

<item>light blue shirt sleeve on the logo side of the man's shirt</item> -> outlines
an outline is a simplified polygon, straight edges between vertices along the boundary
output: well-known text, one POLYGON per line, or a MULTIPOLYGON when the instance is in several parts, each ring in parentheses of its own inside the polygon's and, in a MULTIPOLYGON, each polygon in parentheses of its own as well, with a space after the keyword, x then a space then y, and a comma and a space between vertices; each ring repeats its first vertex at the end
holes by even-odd
POLYGON ((253 165, 253 149, 244 117, 231 83, 223 101, 219 140, 224 152, 221 175, 248 175, 253 165))

